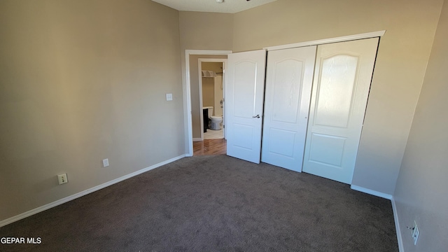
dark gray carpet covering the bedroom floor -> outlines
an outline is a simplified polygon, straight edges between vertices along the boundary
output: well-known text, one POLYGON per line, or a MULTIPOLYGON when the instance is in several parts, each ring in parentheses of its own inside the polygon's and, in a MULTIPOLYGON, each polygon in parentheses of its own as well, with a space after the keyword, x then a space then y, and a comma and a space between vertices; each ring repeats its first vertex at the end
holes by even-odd
POLYGON ((398 251, 391 202, 225 155, 183 158, 0 228, 0 251, 398 251))

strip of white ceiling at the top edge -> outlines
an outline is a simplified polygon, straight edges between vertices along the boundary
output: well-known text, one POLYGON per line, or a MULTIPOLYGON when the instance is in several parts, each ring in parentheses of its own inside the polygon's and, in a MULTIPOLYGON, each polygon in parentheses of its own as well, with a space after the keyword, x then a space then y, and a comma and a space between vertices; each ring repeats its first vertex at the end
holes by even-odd
POLYGON ((237 13, 276 0, 153 0, 176 10, 201 11, 214 13, 237 13))

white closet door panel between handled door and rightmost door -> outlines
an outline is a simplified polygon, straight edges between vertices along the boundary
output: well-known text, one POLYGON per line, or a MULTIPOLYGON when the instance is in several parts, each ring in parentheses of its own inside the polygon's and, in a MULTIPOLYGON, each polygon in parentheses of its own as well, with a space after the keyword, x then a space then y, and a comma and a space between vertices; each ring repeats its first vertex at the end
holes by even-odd
POLYGON ((267 52, 261 161, 302 172, 316 45, 267 52))

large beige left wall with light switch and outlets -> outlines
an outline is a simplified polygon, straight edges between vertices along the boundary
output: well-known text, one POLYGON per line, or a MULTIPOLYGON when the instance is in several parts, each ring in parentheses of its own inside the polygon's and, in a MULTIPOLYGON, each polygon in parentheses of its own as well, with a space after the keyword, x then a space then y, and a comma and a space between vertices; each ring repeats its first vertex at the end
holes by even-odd
POLYGON ((0 221, 185 153, 176 10, 146 0, 0 10, 0 221))

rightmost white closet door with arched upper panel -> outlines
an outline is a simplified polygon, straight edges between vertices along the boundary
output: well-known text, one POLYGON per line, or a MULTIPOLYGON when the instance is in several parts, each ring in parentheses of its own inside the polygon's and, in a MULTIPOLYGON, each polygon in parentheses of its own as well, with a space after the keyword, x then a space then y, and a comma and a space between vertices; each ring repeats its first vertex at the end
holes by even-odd
POLYGON ((378 40, 318 46, 303 172, 351 183, 378 40))

